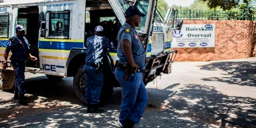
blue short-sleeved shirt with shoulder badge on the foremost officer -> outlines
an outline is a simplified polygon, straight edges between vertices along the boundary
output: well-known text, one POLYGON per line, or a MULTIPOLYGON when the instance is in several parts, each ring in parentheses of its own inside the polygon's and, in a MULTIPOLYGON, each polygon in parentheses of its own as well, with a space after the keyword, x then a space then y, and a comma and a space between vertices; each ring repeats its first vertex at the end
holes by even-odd
POLYGON ((139 34, 136 32, 135 28, 130 26, 127 22, 120 28, 118 35, 117 35, 117 57, 119 58, 120 62, 128 62, 127 57, 125 56, 121 41, 127 39, 130 41, 132 45, 132 57, 134 62, 139 65, 142 69, 145 69, 145 52, 142 46, 141 40, 139 38, 139 34))

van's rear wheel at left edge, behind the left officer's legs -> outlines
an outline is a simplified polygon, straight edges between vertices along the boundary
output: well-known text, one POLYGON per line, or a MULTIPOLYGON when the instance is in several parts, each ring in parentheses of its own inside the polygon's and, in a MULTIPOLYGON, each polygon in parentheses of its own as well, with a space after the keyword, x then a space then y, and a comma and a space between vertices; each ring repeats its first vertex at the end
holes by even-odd
POLYGON ((15 73, 11 70, 4 71, 1 69, 0 74, 0 89, 4 91, 11 91, 15 86, 15 73))

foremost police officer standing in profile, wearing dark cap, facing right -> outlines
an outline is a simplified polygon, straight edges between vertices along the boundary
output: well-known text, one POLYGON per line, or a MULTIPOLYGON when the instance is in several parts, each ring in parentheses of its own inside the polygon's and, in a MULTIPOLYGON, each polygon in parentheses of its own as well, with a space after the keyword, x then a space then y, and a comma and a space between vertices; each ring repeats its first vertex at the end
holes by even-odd
POLYGON ((119 62, 116 62, 115 77, 121 85, 122 93, 119 121, 122 128, 133 128, 135 124, 139 124, 148 102, 148 93, 141 72, 145 69, 145 52, 141 43, 145 36, 140 37, 135 31, 135 27, 140 25, 141 17, 145 17, 145 14, 137 7, 130 6, 124 16, 126 22, 117 35, 119 62), (131 69, 127 65, 132 67, 132 74, 127 73, 127 70, 131 69))

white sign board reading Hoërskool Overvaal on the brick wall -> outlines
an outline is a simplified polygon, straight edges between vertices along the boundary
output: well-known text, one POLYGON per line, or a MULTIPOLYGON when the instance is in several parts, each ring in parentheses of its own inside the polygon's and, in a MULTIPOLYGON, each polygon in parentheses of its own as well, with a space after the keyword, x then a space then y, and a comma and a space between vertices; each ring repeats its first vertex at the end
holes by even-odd
POLYGON ((171 48, 215 47, 215 24, 183 24, 174 30, 171 48))

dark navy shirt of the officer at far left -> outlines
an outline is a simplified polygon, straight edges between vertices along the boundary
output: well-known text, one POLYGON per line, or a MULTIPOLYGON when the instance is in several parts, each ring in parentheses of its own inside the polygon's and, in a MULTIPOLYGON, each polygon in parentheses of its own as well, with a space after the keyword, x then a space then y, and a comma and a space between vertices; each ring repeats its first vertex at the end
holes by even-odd
POLYGON ((19 38, 17 35, 11 37, 6 46, 7 50, 11 50, 11 58, 18 61, 27 61, 29 58, 29 44, 26 37, 19 38))

